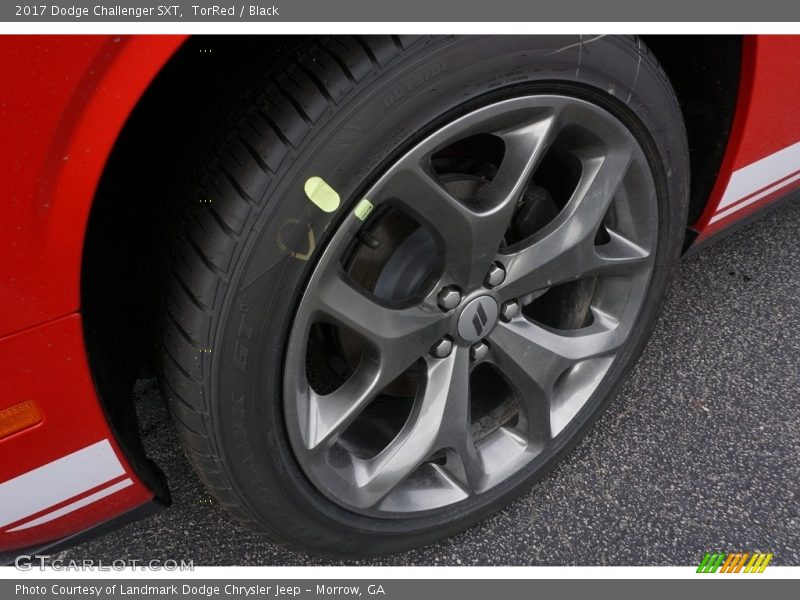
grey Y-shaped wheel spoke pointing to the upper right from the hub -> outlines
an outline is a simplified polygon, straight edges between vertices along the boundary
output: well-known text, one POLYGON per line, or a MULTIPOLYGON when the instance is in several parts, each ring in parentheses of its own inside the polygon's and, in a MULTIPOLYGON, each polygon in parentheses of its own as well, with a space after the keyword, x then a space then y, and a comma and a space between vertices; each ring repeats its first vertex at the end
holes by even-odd
POLYGON ((583 277, 625 274, 649 262, 647 249, 617 232, 609 231, 606 245, 594 243, 630 162, 629 148, 584 160, 584 175, 561 214, 540 238, 506 259, 504 298, 583 277))

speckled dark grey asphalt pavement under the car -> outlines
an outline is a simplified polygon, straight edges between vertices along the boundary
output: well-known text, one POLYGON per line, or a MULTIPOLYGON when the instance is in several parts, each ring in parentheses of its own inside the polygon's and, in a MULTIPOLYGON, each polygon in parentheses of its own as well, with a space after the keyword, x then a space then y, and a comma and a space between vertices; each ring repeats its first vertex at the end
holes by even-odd
MULTIPOLYGON (((174 504, 62 557, 331 564, 240 527, 184 458, 154 380, 136 402, 174 504)), ((800 200, 684 260, 621 394, 539 485, 456 537, 349 564, 686 565, 710 550, 800 565, 800 200)))

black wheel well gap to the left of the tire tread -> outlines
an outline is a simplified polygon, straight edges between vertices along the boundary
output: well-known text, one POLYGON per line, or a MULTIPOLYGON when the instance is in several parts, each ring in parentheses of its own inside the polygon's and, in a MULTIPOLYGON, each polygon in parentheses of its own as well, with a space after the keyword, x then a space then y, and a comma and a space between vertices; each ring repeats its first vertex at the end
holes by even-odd
POLYGON ((89 364, 126 457, 165 501, 168 491, 146 458, 132 402, 135 380, 151 371, 159 265, 169 252, 183 191, 193 179, 191 166, 208 146, 204 140, 225 126, 224 107, 243 100, 232 83, 263 76, 255 73, 256 65, 291 43, 293 38, 279 36, 190 38, 128 118, 89 215, 81 268, 89 364))

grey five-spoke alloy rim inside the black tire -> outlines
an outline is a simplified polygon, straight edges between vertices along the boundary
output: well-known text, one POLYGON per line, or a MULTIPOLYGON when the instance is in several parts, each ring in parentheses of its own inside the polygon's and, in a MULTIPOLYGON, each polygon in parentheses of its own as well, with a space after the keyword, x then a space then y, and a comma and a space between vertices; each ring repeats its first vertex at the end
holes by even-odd
POLYGON ((536 468, 597 401, 644 302, 658 214, 636 137, 587 100, 501 100, 430 133, 357 200, 289 337, 303 472, 390 518, 536 468))

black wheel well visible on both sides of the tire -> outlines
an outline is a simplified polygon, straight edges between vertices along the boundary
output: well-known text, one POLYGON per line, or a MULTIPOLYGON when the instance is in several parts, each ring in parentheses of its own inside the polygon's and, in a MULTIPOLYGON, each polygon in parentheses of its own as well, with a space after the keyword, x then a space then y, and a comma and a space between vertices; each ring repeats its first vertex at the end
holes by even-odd
MULTIPOLYGON (((742 38, 648 36, 680 100, 692 167, 689 224, 699 216, 722 162, 736 105, 742 38)), ((154 345, 159 265, 169 253, 191 165, 237 102, 241 77, 290 51, 297 36, 193 37, 137 104, 109 157, 89 218, 81 305, 89 362, 101 402, 139 475, 168 493, 145 457, 131 392, 154 345), (227 109, 227 110, 226 110, 227 109)), ((214 148, 208 149, 214 151, 214 148)))

